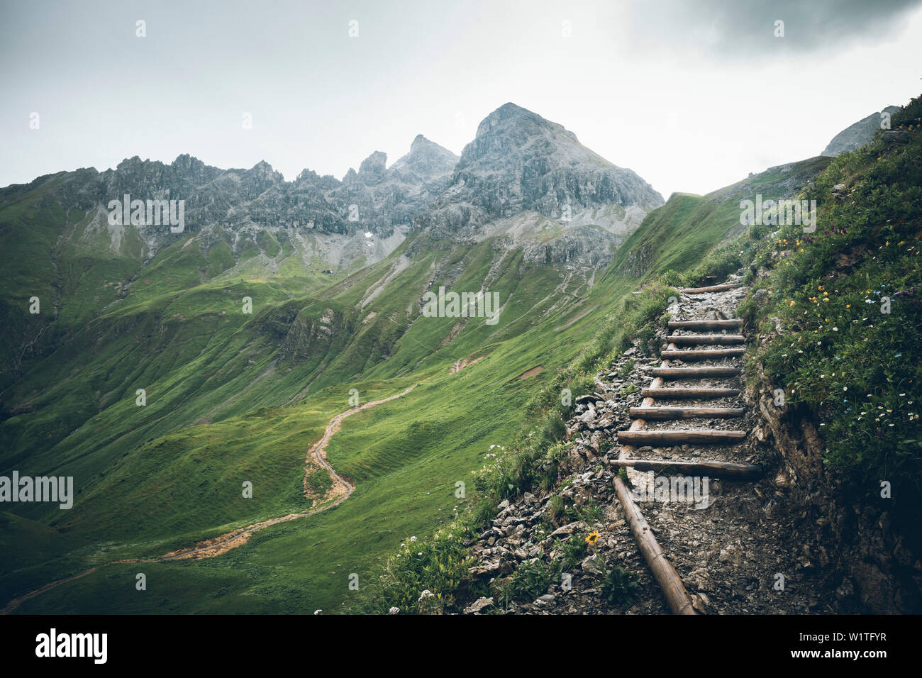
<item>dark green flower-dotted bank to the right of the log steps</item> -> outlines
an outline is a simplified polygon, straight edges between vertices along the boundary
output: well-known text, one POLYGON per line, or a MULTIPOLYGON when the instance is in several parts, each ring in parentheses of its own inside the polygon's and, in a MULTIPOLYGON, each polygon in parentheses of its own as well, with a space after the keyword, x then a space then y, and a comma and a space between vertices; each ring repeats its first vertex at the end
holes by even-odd
MULTIPOLYGON (((819 427, 826 463, 856 499, 881 500, 918 546, 922 492, 922 100, 892 129, 839 156, 804 197, 815 232, 784 226, 766 238, 747 305, 773 337, 755 360, 799 416, 819 427), (760 292, 760 290, 767 291, 760 292), (764 296, 767 301, 755 301, 764 296), (777 328, 781 328, 777 331, 777 328)), ((762 227, 762 232, 765 227, 762 227)), ((753 238, 762 232, 752 232, 753 238)))

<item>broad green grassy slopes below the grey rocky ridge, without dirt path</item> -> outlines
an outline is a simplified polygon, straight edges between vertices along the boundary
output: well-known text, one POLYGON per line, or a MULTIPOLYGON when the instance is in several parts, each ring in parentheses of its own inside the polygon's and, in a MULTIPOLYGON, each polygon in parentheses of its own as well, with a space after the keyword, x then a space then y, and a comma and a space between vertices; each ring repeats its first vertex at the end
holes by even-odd
MULTIPOLYGON (((752 180, 780 196, 792 176, 814 171, 810 161, 797 166, 752 180)), ((55 270, 77 270, 53 237, 62 223, 65 232, 77 228, 76 217, 0 207, 0 237, 19 238, 23 253, 55 253, 34 280, 22 267, 5 281, 19 341, 41 336, 2 391, 0 473, 73 475, 79 492, 70 511, 18 505, 0 514, 9 553, 0 597, 306 510, 304 455, 349 407, 349 389, 365 402, 417 384, 350 417, 334 436, 327 457, 357 488, 341 506, 258 532, 212 560, 112 565, 19 609, 310 612, 353 601, 350 573, 366 581, 401 541, 448 521, 461 504, 455 482, 471 480, 489 446, 513 440, 537 401, 559 398, 561 379, 574 387, 585 379, 572 372, 573 356, 591 362, 610 350, 638 284, 668 269, 693 275, 739 228, 739 196, 673 196, 591 287, 559 268, 526 264, 495 239, 458 244, 422 232, 384 261, 332 281, 293 256, 267 270, 260 257, 276 246, 268 239, 261 254, 235 263, 221 258, 220 242, 204 246, 190 234, 143 270, 130 257, 90 262, 100 280, 81 287, 77 273, 55 270), (40 240, 30 241, 31 232, 40 240), (686 250, 693 255, 678 256, 686 250), (644 266, 631 263, 638 260, 644 266), (131 281, 102 294, 103 280, 131 281), (48 291, 35 293, 63 300, 54 322, 22 310, 39 281, 48 291), (422 293, 441 285, 498 291, 500 322, 420 316, 422 293), (75 291, 55 297, 57 288, 75 291), (102 296, 91 296, 94 288, 102 296), (244 296, 252 315, 242 313, 244 296), (78 309, 64 315, 71 304, 78 309), (144 407, 137 388, 147 389, 144 407), (254 482, 253 499, 242 498, 244 481, 254 482), (136 591, 136 572, 148 575, 148 591, 136 591)), ((310 483, 319 495, 329 479, 316 472, 310 483)))

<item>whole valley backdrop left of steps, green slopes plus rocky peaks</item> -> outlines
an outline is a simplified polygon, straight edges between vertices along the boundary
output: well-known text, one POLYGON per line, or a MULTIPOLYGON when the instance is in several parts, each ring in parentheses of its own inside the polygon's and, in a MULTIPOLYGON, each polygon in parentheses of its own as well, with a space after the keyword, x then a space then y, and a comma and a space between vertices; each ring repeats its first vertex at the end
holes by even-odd
MULTIPOLYGON (((0 189, 0 473, 76 491, 66 512, 2 506, 0 601, 385 612, 406 544, 425 560, 422 541, 535 491, 517 457, 485 480, 494 446, 560 452, 564 390, 653 339, 680 282, 760 255, 777 227, 742 223, 740 202, 798 197, 835 162, 664 200, 507 103, 459 158, 420 135, 342 181, 180 156, 0 189), (110 223, 120 196, 184 201, 183 230, 110 223)), ((475 586, 444 577, 455 602, 475 586)))

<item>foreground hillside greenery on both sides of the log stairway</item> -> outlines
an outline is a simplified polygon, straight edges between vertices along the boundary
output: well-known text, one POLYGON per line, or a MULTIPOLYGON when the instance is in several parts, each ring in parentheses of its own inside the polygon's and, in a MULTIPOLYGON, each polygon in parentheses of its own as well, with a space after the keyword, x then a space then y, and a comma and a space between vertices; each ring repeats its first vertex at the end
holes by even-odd
MULTIPOLYGON (((513 600, 534 601, 562 571, 571 571, 579 554, 563 549, 550 565, 526 561, 494 589, 471 576, 468 547, 489 528, 503 500, 528 492, 546 496, 561 487, 563 421, 572 413, 572 406, 561 404, 563 389, 572 388, 573 398, 591 392, 593 375, 615 363, 633 339, 644 348, 663 320, 665 297, 676 293, 670 285, 699 284, 705 276, 719 280, 746 267, 752 290, 741 311, 767 337, 751 347, 748 378, 755 379, 756 365, 764 365, 765 376, 784 389, 793 421, 817 427, 824 463, 831 482, 844 490, 846 508, 883 506, 897 542, 918 553, 920 125, 922 99, 916 99, 893 116, 891 131, 879 133, 865 149, 834 161, 773 168, 708 196, 676 194, 651 212, 602 278, 642 276, 639 295, 622 300, 613 314, 617 321, 603 322, 590 346, 531 400, 518 434, 485 451, 469 510, 431 539, 401 544, 359 609, 459 612, 480 596, 499 596, 490 608, 497 612, 513 600), (788 179, 788 191, 797 190, 777 191, 778 182, 788 179), (739 200, 760 192, 816 200, 815 232, 799 224, 740 225, 739 200), (423 590, 431 596, 420 597, 423 590)), ((550 510, 572 510, 563 522, 597 519, 593 506, 550 510)), ((582 543, 571 541, 573 548, 582 543)), ((628 595, 630 577, 609 574, 617 581, 607 577, 600 595, 628 595)), ((601 599, 599 606, 604 608, 601 599)))

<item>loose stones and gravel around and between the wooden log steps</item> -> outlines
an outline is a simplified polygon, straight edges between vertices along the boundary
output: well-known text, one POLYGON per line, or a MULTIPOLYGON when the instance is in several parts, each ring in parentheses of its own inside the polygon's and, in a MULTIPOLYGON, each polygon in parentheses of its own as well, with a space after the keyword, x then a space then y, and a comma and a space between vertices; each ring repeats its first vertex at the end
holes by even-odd
MULTIPOLYGON (((730 280, 733 281, 733 280, 730 280)), ((745 288, 715 293, 682 295, 670 309, 672 319, 718 319, 738 317, 736 308, 745 288)), ((650 370, 662 361, 658 348, 665 347, 666 329, 656 338, 653 357, 634 346, 597 375, 597 389, 576 398, 573 419, 567 422, 570 473, 548 493, 525 494, 518 501, 503 502, 490 529, 479 536, 472 552, 479 565, 476 577, 491 582, 493 598, 481 598, 467 613, 668 613, 663 595, 638 552, 613 489, 617 469, 609 460, 621 454, 617 431, 631 424, 628 408, 641 403, 640 389, 653 381, 650 370), (560 495, 569 509, 561 515, 560 495), (565 544, 585 541, 596 530, 594 546, 575 566, 551 569, 560 561, 565 544), (497 595, 508 577, 523 565, 541 562, 555 578, 534 601, 503 606, 497 595), (634 573, 637 594, 628 604, 609 605, 601 596, 603 572, 615 566, 634 573), (571 586, 565 575, 570 575, 571 586)), ((651 342, 654 343, 654 342, 651 342)), ((691 347, 703 348, 703 347, 691 347)), ((707 348, 719 348, 708 346, 707 348)), ((695 362, 694 365, 735 364, 741 359, 695 362)), ((670 367, 681 366, 672 361, 670 367)), ((738 377, 687 379, 668 382, 668 387, 729 387, 745 390, 738 377)), ((660 401, 656 405, 706 405, 747 407, 739 419, 703 419, 647 422, 651 429, 733 429, 761 431, 758 410, 740 398, 705 402, 660 401)), ((656 540, 678 570, 699 613, 833 613, 852 596, 847 578, 831 572, 830 557, 811 536, 814 517, 788 501, 788 488, 778 474, 778 458, 762 434, 750 434, 739 445, 640 446, 632 458, 669 460, 718 460, 760 463, 766 472, 758 482, 732 482, 710 478, 703 506, 678 501, 640 503, 656 540), (762 440, 760 440, 762 438, 762 440), (778 476, 778 482, 776 482, 778 476), (803 535, 803 536, 801 536, 803 535)), ((650 476, 628 470, 634 487, 650 482, 650 476)), ((822 521, 822 517, 816 518, 822 521)))

